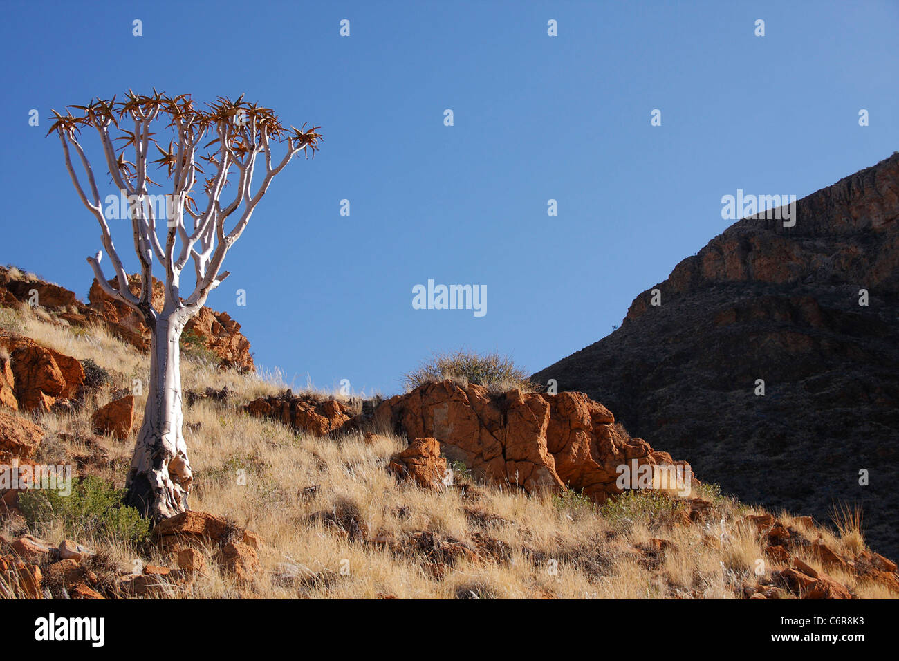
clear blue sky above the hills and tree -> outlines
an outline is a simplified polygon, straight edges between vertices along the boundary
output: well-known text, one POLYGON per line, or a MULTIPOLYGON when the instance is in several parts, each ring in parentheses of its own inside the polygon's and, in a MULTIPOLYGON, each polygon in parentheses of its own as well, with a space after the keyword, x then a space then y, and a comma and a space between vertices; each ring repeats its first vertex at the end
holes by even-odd
POLYGON ((895 1, 31 0, 3 16, 0 263, 82 298, 99 230, 44 138, 51 107, 156 87, 322 125, 209 299, 298 385, 393 393, 458 347, 537 371, 720 233, 722 195, 801 197, 899 148, 895 1), (487 314, 413 309, 428 279, 486 285, 487 314))

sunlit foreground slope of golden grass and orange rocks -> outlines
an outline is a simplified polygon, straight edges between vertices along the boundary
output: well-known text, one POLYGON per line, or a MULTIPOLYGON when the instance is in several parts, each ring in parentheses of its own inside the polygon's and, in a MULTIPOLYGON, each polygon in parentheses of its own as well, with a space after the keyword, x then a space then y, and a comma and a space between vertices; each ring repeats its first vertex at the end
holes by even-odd
POLYGON ((106 330, 0 308, 0 599, 899 596, 851 522, 696 480, 620 493, 621 464, 682 464, 582 393, 443 380, 363 402, 191 353, 191 512, 151 530, 120 506, 147 354, 106 330), (52 467, 72 482, 39 484, 52 467))

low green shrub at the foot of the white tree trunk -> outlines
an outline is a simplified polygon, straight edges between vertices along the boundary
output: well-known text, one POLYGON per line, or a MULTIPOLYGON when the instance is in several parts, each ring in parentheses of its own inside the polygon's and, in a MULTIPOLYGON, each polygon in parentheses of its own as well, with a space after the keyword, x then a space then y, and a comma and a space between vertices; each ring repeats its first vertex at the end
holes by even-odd
POLYGON ((55 490, 25 492, 19 496, 19 507, 32 526, 58 521, 76 539, 104 535, 138 544, 147 540, 150 521, 122 505, 124 496, 124 489, 89 476, 77 482, 68 496, 55 490))

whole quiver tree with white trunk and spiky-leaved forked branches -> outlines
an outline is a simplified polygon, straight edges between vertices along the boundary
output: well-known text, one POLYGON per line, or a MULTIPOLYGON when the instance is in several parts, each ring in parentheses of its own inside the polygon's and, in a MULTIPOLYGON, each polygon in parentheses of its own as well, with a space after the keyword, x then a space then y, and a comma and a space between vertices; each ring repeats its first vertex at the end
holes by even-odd
POLYGON ((227 271, 221 270, 227 252, 243 234, 271 180, 300 151, 315 156, 321 138, 316 133, 319 127, 286 129, 270 109, 243 98, 232 102, 219 97, 207 104, 207 110, 200 110, 188 94, 169 97, 154 90, 152 96, 141 96, 129 91, 123 102, 117 103, 115 97, 97 99, 87 106, 68 106, 65 115, 53 111, 54 123, 48 132, 58 133, 76 192, 100 224, 102 251, 87 258, 97 281, 113 299, 137 310, 150 329, 147 406, 126 482, 126 500, 155 520, 188 509, 193 479, 182 434, 179 341, 184 325, 200 311, 209 292, 227 278, 227 271), (109 205, 128 201, 121 216, 104 210, 93 169, 78 141, 81 130, 89 128, 100 137, 103 167, 120 191, 104 200, 109 205), (159 138, 163 131, 171 138, 166 148, 160 146, 165 144, 159 138), (280 161, 272 156, 273 142, 284 148, 280 161), (151 147, 160 156, 152 161, 151 147), (262 181, 254 190, 260 155, 265 169, 258 174, 257 181, 262 181), (75 159, 83 167, 82 174, 76 174, 75 159), (147 170, 153 164, 168 174, 166 190, 171 192, 167 196, 161 194, 162 184, 150 179, 147 170), (232 174, 236 189, 225 200, 232 174), (194 188, 198 181, 198 189, 206 194, 202 207, 194 199, 199 197, 194 188), (160 205, 160 200, 165 204, 160 205), (130 220, 140 264, 139 294, 129 290, 128 275, 112 243, 111 218, 130 220), (102 272, 104 251, 114 272, 112 283, 102 272), (154 261, 165 271, 162 309, 152 304, 154 261), (191 261, 193 290, 182 296, 182 271, 191 261))

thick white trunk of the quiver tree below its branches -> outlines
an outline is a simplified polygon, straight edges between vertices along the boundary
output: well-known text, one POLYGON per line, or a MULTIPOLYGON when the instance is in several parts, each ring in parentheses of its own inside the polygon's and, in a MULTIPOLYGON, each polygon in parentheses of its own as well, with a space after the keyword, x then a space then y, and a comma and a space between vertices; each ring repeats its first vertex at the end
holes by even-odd
POLYGON ((193 475, 182 434, 180 340, 189 317, 164 310, 151 326, 150 382, 126 503, 155 521, 186 512, 193 475))

